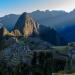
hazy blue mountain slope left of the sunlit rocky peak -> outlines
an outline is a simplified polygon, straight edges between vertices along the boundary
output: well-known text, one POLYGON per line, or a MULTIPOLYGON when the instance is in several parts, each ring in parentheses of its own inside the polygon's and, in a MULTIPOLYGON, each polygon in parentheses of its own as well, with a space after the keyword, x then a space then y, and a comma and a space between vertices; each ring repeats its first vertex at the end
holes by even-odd
POLYGON ((19 15, 9 14, 0 18, 0 23, 2 23, 8 30, 12 30, 14 25, 19 18, 19 15))

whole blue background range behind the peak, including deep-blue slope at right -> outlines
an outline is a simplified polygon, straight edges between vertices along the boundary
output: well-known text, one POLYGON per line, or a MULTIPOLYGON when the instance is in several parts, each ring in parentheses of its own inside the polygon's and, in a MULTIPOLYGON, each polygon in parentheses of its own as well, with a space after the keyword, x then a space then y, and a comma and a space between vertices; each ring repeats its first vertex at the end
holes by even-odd
MULTIPOLYGON (((55 29, 60 36, 65 38, 67 42, 75 41, 75 10, 71 11, 70 13, 65 11, 37 10, 28 14, 40 25, 55 29)), ((19 15, 6 15, 0 18, 0 23, 2 23, 9 31, 11 31, 14 28, 18 18, 19 15)))

